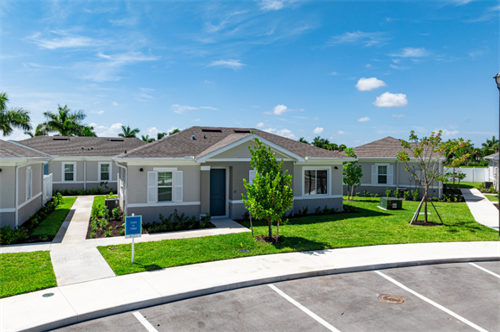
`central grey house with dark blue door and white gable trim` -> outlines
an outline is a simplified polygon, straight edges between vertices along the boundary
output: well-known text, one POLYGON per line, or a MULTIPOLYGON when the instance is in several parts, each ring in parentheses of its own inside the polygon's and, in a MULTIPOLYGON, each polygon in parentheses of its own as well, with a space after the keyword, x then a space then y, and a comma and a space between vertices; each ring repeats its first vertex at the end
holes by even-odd
POLYGON ((245 212, 243 179, 255 176, 248 147, 255 138, 272 148, 293 176, 293 210, 342 210, 345 155, 258 129, 191 127, 114 158, 125 214, 158 221, 159 213, 239 218, 245 212), (253 131, 253 134, 250 131, 253 131))

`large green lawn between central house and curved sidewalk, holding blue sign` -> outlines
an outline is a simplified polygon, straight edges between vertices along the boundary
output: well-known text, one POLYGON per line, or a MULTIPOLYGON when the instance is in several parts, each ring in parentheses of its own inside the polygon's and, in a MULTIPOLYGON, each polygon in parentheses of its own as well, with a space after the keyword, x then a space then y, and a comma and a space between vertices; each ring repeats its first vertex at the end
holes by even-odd
MULTIPOLYGON (((378 199, 356 197, 356 200, 344 204, 356 209, 357 213, 290 219, 288 225, 280 226, 280 235, 285 240, 274 245, 255 241, 250 233, 145 242, 135 245, 135 264, 130 262, 130 244, 98 247, 98 250, 113 271, 123 275, 282 252, 396 243, 499 240, 497 231, 474 221, 465 203, 434 203, 445 225, 422 227, 408 225, 419 202, 405 201, 403 210, 383 211, 377 208, 378 199), (242 248, 250 252, 242 253, 239 251, 242 248)), ((430 205, 429 208, 432 209, 430 205)), ((431 213, 430 221, 439 222, 434 211, 431 213)), ((267 234, 266 222, 254 225, 255 236, 267 234)))

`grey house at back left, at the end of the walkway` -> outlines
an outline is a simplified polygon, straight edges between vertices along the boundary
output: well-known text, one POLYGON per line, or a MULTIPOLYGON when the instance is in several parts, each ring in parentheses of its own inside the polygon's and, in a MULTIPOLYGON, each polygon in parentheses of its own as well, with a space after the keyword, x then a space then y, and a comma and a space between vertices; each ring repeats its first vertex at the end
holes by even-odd
POLYGON ((73 136, 37 136, 19 143, 52 157, 44 173, 53 174, 54 190, 86 190, 106 182, 113 192, 118 168, 111 158, 148 144, 138 138, 73 136))

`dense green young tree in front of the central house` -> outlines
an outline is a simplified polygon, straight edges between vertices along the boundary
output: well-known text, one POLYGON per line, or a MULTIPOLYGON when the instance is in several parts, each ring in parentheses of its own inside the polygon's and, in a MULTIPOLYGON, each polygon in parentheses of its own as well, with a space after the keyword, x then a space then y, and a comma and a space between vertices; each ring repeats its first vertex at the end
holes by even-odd
POLYGON ((278 162, 271 148, 263 146, 258 138, 254 150, 248 147, 250 165, 255 169, 252 184, 243 179, 247 194, 241 194, 243 204, 251 216, 268 222, 269 241, 273 241, 273 222, 279 223, 287 210, 293 206, 292 176, 282 170, 283 160, 278 162))

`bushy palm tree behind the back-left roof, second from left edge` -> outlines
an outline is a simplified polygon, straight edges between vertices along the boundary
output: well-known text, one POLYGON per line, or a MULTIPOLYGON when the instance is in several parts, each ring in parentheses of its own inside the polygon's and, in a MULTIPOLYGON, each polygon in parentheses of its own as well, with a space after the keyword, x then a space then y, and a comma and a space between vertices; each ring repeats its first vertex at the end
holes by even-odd
POLYGON ((61 136, 85 136, 85 125, 82 121, 87 117, 83 111, 74 111, 68 105, 57 105, 57 113, 43 113, 47 121, 44 125, 48 132, 56 132, 61 136))

